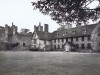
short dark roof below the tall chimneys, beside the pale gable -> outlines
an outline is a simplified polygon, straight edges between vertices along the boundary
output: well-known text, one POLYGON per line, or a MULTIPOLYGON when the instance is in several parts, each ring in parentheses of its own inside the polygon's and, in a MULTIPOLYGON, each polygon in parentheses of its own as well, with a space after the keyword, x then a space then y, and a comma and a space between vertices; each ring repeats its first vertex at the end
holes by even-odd
POLYGON ((52 34, 44 31, 36 31, 40 40, 51 40, 52 34))

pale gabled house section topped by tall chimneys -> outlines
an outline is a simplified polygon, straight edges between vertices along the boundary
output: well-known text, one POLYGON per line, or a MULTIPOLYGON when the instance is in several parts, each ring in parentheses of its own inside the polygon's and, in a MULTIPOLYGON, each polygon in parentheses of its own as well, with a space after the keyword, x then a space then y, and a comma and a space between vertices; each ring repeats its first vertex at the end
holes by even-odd
POLYGON ((40 50, 50 50, 51 47, 51 40, 48 40, 48 25, 44 25, 44 31, 43 31, 43 26, 39 24, 39 26, 35 26, 33 37, 32 37, 32 43, 31 43, 31 48, 32 49, 40 49, 40 50), (40 30, 42 29, 42 31, 40 30), (48 49, 49 46, 49 49, 48 49))

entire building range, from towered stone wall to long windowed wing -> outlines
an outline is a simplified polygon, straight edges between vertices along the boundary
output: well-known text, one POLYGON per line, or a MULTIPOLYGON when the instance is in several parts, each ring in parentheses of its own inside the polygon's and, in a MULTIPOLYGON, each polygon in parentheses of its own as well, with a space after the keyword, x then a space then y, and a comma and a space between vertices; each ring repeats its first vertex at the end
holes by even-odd
MULTIPOLYGON (((3 43, 19 43, 13 49, 38 49, 64 51, 100 51, 100 23, 72 28, 65 25, 63 28, 50 33, 48 24, 34 25, 34 32, 18 33, 17 26, 0 26, 0 47, 3 43)), ((2 49, 2 48, 1 48, 2 49)))

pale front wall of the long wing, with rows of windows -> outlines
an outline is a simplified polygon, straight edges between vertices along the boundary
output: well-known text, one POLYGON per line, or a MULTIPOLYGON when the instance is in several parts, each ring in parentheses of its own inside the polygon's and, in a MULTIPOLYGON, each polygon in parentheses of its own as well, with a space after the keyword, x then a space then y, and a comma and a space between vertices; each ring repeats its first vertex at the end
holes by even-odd
POLYGON ((70 37, 70 38, 61 38, 61 39, 52 40, 53 49, 64 49, 63 46, 66 42, 73 43, 75 46, 77 46, 76 48, 77 50, 91 50, 91 48, 88 48, 88 44, 90 44, 91 46, 90 36, 70 37))

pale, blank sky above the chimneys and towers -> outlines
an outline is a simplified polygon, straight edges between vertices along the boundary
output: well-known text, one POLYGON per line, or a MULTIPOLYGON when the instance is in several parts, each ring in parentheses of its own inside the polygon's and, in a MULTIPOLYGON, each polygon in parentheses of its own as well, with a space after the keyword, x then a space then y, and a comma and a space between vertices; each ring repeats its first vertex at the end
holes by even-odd
MULTIPOLYGON (((30 29, 34 31, 34 25, 49 25, 49 31, 53 32, 59 28, 59 25, 51 20, 50 16, 43 15, 38 10, 33 10, 31 2, 37 0, 0 0, 0 26, 14 25, 18 26, 18 31, 21 28, 30 29)), ((92 8, 97 5, 97 2, 90 5, 92 8)))

